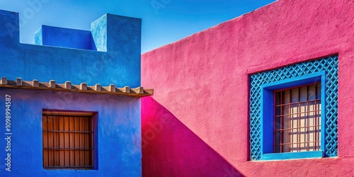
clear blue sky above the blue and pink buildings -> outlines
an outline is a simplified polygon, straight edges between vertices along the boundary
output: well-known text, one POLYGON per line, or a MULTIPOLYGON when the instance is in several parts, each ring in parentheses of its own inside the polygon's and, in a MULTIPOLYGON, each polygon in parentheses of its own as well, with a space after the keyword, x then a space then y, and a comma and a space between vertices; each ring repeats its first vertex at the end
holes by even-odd
POLYGON ((105 13, 142 18, 142 52, 205 30, 275 0, 0 0, 20 13, 21 42, 34 43, 40 25, 89 30, 105 13), (32 2, 32 3, 31 3, 32 2))

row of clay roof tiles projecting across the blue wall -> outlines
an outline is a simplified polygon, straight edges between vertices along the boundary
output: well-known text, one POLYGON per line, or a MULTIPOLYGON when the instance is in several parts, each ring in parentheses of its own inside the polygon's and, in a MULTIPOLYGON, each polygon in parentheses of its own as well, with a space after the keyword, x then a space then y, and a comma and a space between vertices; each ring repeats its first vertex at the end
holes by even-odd
POLYGON ((129 86, 123 88, 115 88, 114 84, 109 86, 101 86, 96 84, 95 86, 87 86, 86 83, 80 85, 72 85, 70 81, 66 81, 64 84, 56 84, 54 80, 49 82, 39 82, 34 79, 33 81, 22 81, 21 78, 17 78, 16 81, 8 81, 6 77, 1 77, 0 87, 10 89, 39 89, 39 90, 53 90, 53 91, 76 91, 84 93, 108 93, 115 95, 144 97, 154 95, 154 89, 144 89, 143 87, 137 87, 130 89, 129 86))

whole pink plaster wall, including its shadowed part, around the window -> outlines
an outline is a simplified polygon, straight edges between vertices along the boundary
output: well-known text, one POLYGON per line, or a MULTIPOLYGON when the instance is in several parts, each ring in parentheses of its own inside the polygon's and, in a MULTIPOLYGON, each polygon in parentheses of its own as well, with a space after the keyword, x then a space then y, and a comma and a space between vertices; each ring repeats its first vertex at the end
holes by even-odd
POLYGON ((142 55, 143 176, 354 176, 354 1, 279 0, 142 55), (249 161, 249 74, 338 53, 338 157, 249 161))

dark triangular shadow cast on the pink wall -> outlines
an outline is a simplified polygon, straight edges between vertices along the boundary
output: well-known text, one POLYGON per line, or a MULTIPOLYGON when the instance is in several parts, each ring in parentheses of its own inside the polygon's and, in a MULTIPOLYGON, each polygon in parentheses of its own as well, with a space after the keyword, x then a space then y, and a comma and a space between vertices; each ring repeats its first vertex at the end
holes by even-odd
POLYGON ((142 98, 142 176, 244 176, 152 97, 142 98))

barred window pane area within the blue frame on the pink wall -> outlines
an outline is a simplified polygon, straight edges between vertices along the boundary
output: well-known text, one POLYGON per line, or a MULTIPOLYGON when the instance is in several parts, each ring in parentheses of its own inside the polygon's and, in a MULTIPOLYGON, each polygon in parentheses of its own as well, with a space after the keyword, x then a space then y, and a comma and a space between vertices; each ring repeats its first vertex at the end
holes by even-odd
POLYGON ((321 84, 274 91, 274 152, 318 151, 321 84))

